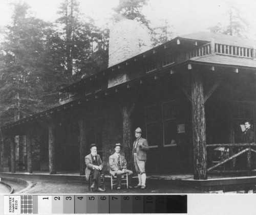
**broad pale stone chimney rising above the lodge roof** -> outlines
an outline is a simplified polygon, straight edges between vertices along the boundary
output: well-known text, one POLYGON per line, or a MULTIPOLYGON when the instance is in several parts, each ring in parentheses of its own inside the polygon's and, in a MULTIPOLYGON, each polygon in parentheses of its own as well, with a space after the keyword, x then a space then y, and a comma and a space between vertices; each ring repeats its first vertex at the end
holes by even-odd
POLYGON ((135 20, 122 19, 110 30, 109 67, 151 48, 150 32, 135 20))

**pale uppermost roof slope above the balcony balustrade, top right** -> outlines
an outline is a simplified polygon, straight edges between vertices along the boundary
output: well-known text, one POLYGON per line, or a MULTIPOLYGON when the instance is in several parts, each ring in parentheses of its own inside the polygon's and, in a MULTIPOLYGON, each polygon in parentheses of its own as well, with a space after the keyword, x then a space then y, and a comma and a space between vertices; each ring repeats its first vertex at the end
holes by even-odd
POLYGON ((211 38, 215 39, 215 42, 227 44, 227 45, 237 45, 237 46, 247 46, 253 47, 256 45, 256 40, 244 39, 241 37, 235 37, 224 34, 215 34, 209 32, 198 32, 194 34, 183 35, 180 38, 193 39, 193 40, 202 40, 202 41, 211 41, 211 38))

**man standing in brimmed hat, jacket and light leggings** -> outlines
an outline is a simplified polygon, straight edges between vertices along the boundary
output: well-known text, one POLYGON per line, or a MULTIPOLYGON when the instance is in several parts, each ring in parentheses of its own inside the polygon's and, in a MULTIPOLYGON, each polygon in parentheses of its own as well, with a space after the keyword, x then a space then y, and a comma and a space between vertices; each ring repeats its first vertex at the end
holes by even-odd
POLYGON ((133 159, 136 173, 138 174, 139 183, 134 186, 134 188, 140 187, 141 189, 146 188, 146 172, 145 172, 145 163, 146 163, 146 151, 149 147, 147 140, 141 137, 142 130, 137 128, 135 130, 136 140, 133 144, 133 159))

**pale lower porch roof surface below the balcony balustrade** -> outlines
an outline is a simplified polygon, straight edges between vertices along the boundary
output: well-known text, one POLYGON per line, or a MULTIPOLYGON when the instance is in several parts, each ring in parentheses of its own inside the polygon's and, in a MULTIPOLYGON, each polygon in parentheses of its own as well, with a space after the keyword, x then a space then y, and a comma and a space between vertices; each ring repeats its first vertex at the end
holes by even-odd
POLYGON ((247 58, 238 58, 223 55, 205 55, 200 57, 190 58, 190 61, 200 62, 200 63, 211 63, 211 64, 222 64, 228 66, 245 66, 256 68, 256 61, 247 58))

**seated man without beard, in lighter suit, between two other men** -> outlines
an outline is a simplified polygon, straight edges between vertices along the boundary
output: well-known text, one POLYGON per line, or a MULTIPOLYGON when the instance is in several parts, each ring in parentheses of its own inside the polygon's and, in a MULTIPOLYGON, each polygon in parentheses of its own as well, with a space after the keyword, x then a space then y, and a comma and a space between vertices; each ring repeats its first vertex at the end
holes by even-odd
POLYGON ((121 155, 120 149, 121 149, 121 144, 116 144, 114 146, 115 153, 110 156, 109 162, 110 162, 110 174, 112 176, 117 177, 117 189, 121 188, 121 177, 122 174, 128 173, 128 187, 133 188, 131 186, 131 181, 133 177, 133 172, 131 170, 127 170, 127 162, 124 158, 123 155, 121 155))

